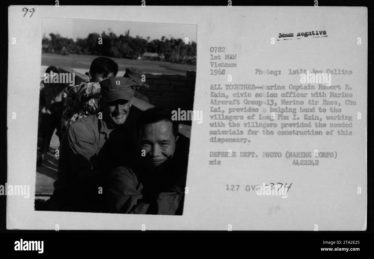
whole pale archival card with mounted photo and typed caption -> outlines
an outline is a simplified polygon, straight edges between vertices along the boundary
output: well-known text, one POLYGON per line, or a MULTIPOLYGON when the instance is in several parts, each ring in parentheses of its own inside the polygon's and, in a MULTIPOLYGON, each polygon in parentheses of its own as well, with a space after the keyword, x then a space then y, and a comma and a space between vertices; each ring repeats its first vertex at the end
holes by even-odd
POLYGON ((367 229, 366 7, 25 8, 7 229, 367 229))

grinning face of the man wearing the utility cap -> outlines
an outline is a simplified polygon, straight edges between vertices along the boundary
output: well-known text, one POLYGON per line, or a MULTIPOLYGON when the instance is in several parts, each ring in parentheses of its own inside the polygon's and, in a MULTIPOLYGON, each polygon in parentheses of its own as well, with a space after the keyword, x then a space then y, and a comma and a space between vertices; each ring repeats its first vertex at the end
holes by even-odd
POLYGON ((103 102, 102 111, 107 118, 108 123, 114 127, 125 123, 129 115, 131 101, 125 99, 118 99, 113 102, 103 102))

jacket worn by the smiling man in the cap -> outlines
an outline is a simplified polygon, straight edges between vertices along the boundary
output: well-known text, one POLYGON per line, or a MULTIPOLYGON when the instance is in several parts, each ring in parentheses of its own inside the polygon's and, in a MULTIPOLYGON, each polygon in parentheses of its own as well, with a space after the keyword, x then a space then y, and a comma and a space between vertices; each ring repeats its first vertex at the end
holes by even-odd
POLYGON ((71 124, 60 146, 57 181, 53 184, 52 201, 59 203, 50 209, 105 211, 109 174, 118 159, 125 160, 131 154, 131 134, 126 123, 110 131, 97 115, 71 124))

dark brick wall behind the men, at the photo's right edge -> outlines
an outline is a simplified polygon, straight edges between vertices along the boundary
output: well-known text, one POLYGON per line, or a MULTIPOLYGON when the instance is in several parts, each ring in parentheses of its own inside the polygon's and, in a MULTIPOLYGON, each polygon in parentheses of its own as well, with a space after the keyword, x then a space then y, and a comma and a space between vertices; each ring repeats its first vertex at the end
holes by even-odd
POLYGON ((195 92, 196 71, 186 75, 145 73, 149 88, 138 90, 149 98, 150 104, 176 110, 192 110, 195 92))

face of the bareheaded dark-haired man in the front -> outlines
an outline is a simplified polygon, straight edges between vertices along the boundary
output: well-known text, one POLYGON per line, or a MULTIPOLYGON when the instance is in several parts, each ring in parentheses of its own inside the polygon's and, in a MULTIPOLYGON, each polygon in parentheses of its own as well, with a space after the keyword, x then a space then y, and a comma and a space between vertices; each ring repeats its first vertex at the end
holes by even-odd
POLYGON ((156 167, 172 157, 176 141, 173 124, 170 121, 157 121, 141 129, 139 148, 141 152, 145 150, 147 162, 156 167))

